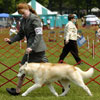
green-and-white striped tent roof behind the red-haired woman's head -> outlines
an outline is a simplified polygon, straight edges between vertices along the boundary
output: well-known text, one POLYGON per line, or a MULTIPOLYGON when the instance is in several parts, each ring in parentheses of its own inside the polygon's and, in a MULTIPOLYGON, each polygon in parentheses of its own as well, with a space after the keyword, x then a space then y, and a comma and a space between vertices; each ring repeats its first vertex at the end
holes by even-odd
MULTIPOLYGON (((52 12, 46 7, 42 6, 40 3, 38 3, 36 0, 31 0, 29 5, 34 6, 33 8, 37 12, 38 15, 56 15, 57 12, 52 12)), ((15 13, 12 14, 12 16, 20 16, 18 12, 16 11, 15 13)))

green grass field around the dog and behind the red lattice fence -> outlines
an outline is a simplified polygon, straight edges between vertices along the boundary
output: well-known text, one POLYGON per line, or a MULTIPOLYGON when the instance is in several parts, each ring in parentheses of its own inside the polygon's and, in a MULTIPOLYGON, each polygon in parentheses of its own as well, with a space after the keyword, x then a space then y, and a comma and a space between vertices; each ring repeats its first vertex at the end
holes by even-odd
MULTIPOLYGON (((79 22, 80 25, 80 22, 79 22)), ((100 100, 100 42, 95 41, 95 58, 92 58, 92 42, 95 40, 95 31, 97 29, 96 26, 92 27, 85 27, 82 28, 81 25, 79 26, 79 29, 82 30, 82 33, 87 38, 89 37, 90 41, 90 48, 87 48, 87 43, 84 44, 82 47, 79 47, 79 55, 81 59, 84 61, 82 65, 78 65, 82 70, 88 70, 90 67, 94 67, 94 75, 92 79, 95 79, 94 81, 90 82, 87 86, 90 88, 93 96, 90 97, 87 95, 87 93, 80 87, 76 86, 75 84, 71 83, 71 89, 68 92, 68 94, 64 97, 55 97, 53 94, 49 91, 47 86, 44 86, 40 89, 37 89, 35 91, 32 91, 27 97, 21 97, 19 96, 11 96, 6 92, 6 88, 10 87, 16 87, 13 83, 7 82, 7 80, 10 80, 16 76, 16 72, 13 72, 13 70, 18 72, 18 64, 22 59, 22 55, 25 52, 26 44, 22 43, 22 47, 20 49, 19 42, 14 43, 12 45, 6 44, 3 39, 8 36, 8 29, 3 29, 0 31, 0 86, 1 84, 5 83, 5 85, 0 87, 0 100, 100 100), (97 64, 98 63, 98 64, 97 64), (16 64, 14 67, 12 67, 14 64, 16 64), (7 65, 7 66, 6 66, 7 65), (8 67, 10 69, 8 70, 8 67), (97 70, 98 69, 98 70, 97 70), (1 73, 2 71, 7 70, 4 73, 1 73), (96 78, 98 76, 98 78, 96 78), (6 77, 7 79, 5 79, 6 77), (97 82, 97 83, 96 83, 97 82), (99 84, 98 84, 99 83, 99 84)), ((49 42, 48 41, 48 33, 49 30, 44 30, 44 39, 47 44, 47 52, 46 55, 49 59, 49 62, 57 63, 59 59, 59 55, 62 51, 63 47, 63 34, 59 34, 59 31, 63 29, 55 29, 56 32, 56 42, 49 42), (60 36, 60 37, 59 37, 60 36)), ((69 54, 66 59, 66 63, 75 65, 76 62, 74 58, 69 54)), ((28 77, 31 79, 30 77, 28 77)), ((91 79, 85 80, 85 83, 88 83, 91 79)), ((15 79, 12 80, 13 82, 17 83, 18 79, 15 77, 15 79)), ((30 87, 33 83, 29 82, 25 85, 26 82, 29 80, 25 79, 24 86, 22 87, 22 93, 30 87)), ((54 87, 56 91, 60 94, 61 93, 61 87, 56 85, 54 83, 54 87)))

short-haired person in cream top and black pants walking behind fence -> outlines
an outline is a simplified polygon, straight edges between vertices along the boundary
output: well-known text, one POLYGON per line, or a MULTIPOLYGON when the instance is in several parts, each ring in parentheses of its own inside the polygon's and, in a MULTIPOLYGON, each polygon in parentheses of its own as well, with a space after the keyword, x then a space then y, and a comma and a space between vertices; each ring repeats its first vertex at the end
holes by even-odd
POLYGON ((74 24, 76 19, 73 14, 69 14, 68 20, 69 22, 66 24, 64 30, 64 47, 59 58, 59 63, 63 63, 64 58, 68 55, 69 52, 71 52, 77 64, 82 64, 82 61, 78 55, 77 37, 80 36, 77 34, 77 28, 74 24))

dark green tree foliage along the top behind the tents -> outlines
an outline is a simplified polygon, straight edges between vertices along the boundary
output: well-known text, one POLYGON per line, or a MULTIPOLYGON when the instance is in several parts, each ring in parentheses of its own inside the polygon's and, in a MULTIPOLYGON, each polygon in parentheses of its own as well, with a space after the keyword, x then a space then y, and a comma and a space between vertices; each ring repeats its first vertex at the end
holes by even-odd
MULTIPOLYGON (((20 2, 29 2, 31 0, 0 0, 0 13, 13 13, 16 11, 16 5, 20 2)), ((62 14, 67 13, 80 14, 81 10, 91 9, 99 6, 99 0, 36 0, 52 11, 58 11, 62 14)))

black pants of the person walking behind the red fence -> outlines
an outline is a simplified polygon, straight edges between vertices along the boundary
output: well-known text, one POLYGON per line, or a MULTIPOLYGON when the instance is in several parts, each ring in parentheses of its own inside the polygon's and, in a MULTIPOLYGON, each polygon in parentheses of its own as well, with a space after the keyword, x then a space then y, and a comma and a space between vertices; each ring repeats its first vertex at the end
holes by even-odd
MULTIPOLYGON (((64 44, 65 44, 65 41, 64 41, 64 44)), ((69 52, 71 52, 71 54, 73 55, 77 63, 81 62, 81 59, 78 55, 77 42, 74 40, 69 40, 68 44, 64 45, 62 53, 60 55, 59 62, 63 61, 69 52)))

